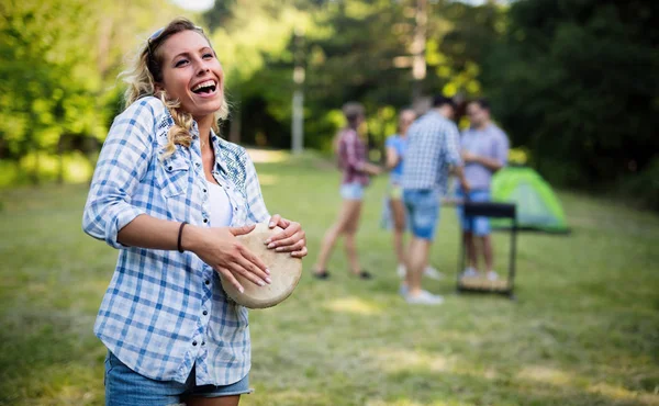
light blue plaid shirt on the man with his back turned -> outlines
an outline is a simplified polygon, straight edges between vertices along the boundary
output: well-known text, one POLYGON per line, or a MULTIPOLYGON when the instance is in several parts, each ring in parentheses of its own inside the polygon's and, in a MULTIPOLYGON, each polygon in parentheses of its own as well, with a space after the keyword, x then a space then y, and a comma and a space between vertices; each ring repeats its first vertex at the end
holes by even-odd
POLYGON ((460 133, 454 122, 433 110, 410 126, 401 179, 403 189, 445 193, 449 168, 461 165, 460 133))

